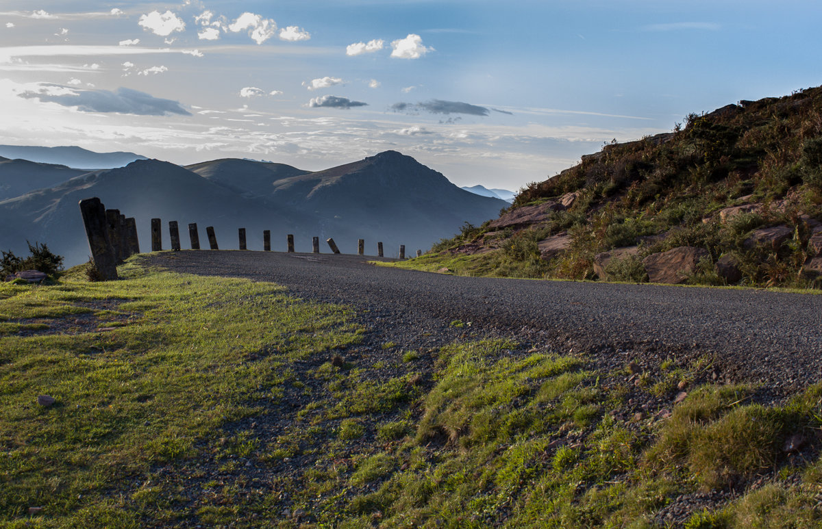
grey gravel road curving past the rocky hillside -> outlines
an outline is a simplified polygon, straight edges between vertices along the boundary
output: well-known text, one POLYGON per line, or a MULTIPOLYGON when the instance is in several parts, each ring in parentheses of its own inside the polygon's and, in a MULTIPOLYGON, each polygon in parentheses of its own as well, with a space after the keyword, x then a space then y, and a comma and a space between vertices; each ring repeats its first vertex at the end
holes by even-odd
POLYGON ((178 272, 271 281, 297 297, 353 306, 385 341, 515 338, 609 368, 709 357, 718 380, 761 382, 774 396, 822 380, 822 296, 465 278, 367 264, 373 259, 260 251, 148 256, 151 265, 178 272))

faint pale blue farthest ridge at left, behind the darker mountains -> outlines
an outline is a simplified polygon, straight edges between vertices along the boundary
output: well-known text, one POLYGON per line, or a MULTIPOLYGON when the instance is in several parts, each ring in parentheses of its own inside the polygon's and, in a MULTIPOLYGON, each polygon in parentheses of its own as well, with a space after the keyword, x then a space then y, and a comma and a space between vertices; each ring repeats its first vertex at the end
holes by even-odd
POLYGON ((95 153, 81 147, 37 147, 30 145, 0 145, 0 156, 27 159, 32 162, 54 163, 80 169, 118 168, 145 156, 134 153, 95 153))

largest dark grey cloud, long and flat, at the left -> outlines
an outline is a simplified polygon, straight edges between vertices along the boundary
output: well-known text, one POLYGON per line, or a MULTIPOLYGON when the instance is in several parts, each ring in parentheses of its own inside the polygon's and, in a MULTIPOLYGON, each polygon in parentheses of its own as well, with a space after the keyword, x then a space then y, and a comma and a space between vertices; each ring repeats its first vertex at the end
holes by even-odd
POLYGON ((112 92, 77 90, 61 85, 43 84, 39 90, 23 92, 20 97, 58 103, 64 107, 77 107, 83 112, 113 112, 141 116, 191 115, 178 101, 155 98, 151 94, 129 88, 118 88, 112 92))

